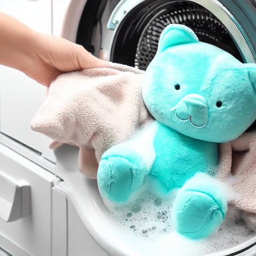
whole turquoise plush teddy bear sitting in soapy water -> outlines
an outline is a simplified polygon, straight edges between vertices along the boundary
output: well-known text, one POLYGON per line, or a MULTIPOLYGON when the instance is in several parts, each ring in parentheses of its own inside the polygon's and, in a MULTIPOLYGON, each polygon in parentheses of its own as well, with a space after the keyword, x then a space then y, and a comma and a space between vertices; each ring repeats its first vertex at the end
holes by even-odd
POLYGON ((175 228, 189 238, 209 235, 228 206, 226 194, 207 177, 218 167, 218 143, 237 138, 256 119, 255 66, 199 42, 186 26, 167 26, 142 85, 157 125, 153 164, 148 167, 135 148, 110 148, 98 169, 101 195, 126 202, 146 176, 163 194, 180 188, 175 228), (206 178, 195 179, 198 173, 206 178))

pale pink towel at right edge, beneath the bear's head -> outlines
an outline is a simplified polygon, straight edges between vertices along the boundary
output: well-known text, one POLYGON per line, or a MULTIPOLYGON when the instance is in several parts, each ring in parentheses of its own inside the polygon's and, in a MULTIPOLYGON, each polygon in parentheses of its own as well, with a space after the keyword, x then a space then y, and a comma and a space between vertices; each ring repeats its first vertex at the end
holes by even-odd
POLYGON ((218 178, 233 190, 229 204, 256 213, 256 132, 220 144, 218 178))

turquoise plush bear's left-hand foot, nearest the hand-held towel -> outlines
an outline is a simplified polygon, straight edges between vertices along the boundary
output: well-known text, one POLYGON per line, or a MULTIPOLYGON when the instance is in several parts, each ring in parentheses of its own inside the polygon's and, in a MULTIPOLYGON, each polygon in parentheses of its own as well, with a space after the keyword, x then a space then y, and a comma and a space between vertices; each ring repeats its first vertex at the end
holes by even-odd
POLYGON ((126 202, 142 185, 147 167, 138 151, 114 146, 103 155, 98 169, 98 186, 102 196, 126 202))

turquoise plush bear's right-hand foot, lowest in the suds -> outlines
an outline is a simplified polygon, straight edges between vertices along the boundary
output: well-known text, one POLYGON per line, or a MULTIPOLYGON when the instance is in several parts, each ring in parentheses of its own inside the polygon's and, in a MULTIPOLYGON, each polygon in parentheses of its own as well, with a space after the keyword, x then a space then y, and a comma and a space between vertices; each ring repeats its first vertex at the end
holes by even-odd
POLYGON ((189 238, 210 235, 225 218, 226 196, 206 181, 190 179, 180 189, 174 205, 174 226, 189 238))

